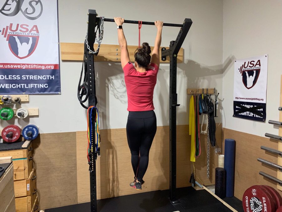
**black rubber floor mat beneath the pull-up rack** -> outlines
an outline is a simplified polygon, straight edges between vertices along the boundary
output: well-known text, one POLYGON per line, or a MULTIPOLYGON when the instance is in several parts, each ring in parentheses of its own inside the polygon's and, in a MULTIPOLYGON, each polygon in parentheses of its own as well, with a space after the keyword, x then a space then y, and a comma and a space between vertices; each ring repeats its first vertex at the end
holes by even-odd
MULTIPOLYGON (((97 201, 99 212, 229 212, 224 204, 214 198, 206 190, 196 191, 192 187, 176 189, 179 203, 172 205, 169 200, 169 190, 151 191, 97 201)), ((242 211, 242 201, 229 198, 228 204, 238 211, 242 211), (241 210, 240 210, 241 209, 241 210)), ((90 203, 70 205, 54 209, 45 209, 45 212, 90 212, 90 203)))

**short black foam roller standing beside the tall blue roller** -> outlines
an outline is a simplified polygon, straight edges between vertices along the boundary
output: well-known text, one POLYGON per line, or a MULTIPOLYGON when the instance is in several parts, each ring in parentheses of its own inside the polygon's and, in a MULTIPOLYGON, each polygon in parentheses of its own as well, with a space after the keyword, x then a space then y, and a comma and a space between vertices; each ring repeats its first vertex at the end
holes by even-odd
POLYGON ((226 171, 224 168, 216 168, 215 177, 215 194, 219 198, 225 198, 226 196, 226 171))

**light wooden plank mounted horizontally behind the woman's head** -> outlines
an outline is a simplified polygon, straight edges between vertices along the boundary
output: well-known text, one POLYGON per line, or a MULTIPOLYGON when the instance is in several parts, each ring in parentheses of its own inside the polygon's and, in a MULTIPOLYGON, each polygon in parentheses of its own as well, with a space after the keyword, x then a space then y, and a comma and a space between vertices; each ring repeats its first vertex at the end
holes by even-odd
MULTIPOLYGON (((60 43, 61 46, 61 60, 66 61, 82 61, 84 53, 83 43, 60 43)), ((134 52, 138 46, 128 46, 128 53, 130 61, 134 61, 134 52)), ((151 50, 153 50, 151 46, 151 50)), ((161 52, 160 47, 160 52, 161 52)), ((169 47, 165 47, 169 49, 169 47)), ((94 44, 94 49, 97 49, 97 44, 94 44)), ((161 55, 161 53, 160 53, 161 55)), ((120 47, 119 45, 101 44, 99 54, 95 57, 95 61, 108 61, 108 62, 120 62, 120 47)), ((167 57, 166 61, 162 61, 160 57, 160 63, 169 63, 170 57, 167 57)), ((180 48, 177 55, 177 63, 183 62, 183 48, 180 48)))

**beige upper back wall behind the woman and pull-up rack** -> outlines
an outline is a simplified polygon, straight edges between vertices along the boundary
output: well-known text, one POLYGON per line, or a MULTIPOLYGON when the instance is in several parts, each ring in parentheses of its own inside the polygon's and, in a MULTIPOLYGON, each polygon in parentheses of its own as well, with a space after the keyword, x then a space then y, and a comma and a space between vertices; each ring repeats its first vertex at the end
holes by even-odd
MULTIPOLYGON (((192 27, 183 43, 184 63, 178 64, 177 124, 188 124, 186 94, 188 87, 216 87, 222 94, 222 0, 175 0, 175 1, 89 1, 59 0, 60 42, 84 41, 87 29, 88 9, 96 9, 100 16, 122 16, 129 20, 182 23, 191 18, 192 27)), ((102 43, 118 44, 114 23, 105 23, 102 43)), ((138 27, 124 25, 129 45, 138 45, 138 27)), ((169 46, 179 28, 164 27, 162 45, 169 46)), ((143 25, 141 41, 154 44, 154 26, 143 25)), ((77 85, 81 63, 61 62, 61 95, 31 95, 27 107, 38 107, 39 117, 30 118, 39 126, 40 133, 75 132, 86 130, 85 109, 77 100, 77 85), (58 112, 51 117, 57 108, 58 112), (63 109, 62 109, 63 108, 63 109)), ((125 128, 127 97, 120 63, 95 64, 97 73, 97 97, 101 129, 125 128)), ((169 64, 162 64, 154 92, 157 125, 169 125, 169 64)), ((220 112, 217 122, 221 122, 220 112)), ((17 120, 15 121, 17 124, 17 120)), ((5 127, 6 122, 0 125, 5 127)), ((11 124, 11 123, 10 123, 11 124)), ((27 123, 20 121, 20 126, 27 123)), ((0 127, 1 127, 0 126, 0 127)))

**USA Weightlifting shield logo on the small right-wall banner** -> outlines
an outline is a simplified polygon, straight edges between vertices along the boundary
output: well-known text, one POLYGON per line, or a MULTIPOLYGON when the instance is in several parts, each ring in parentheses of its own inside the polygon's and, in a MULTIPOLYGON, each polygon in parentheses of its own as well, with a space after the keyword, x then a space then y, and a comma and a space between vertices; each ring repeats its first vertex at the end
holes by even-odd
POLYGON ((253 88, 258 81, 261 65, 260 60, 258 61, 248 61, 238 68, 242 75, 242 81, 247 89, 253 88))

